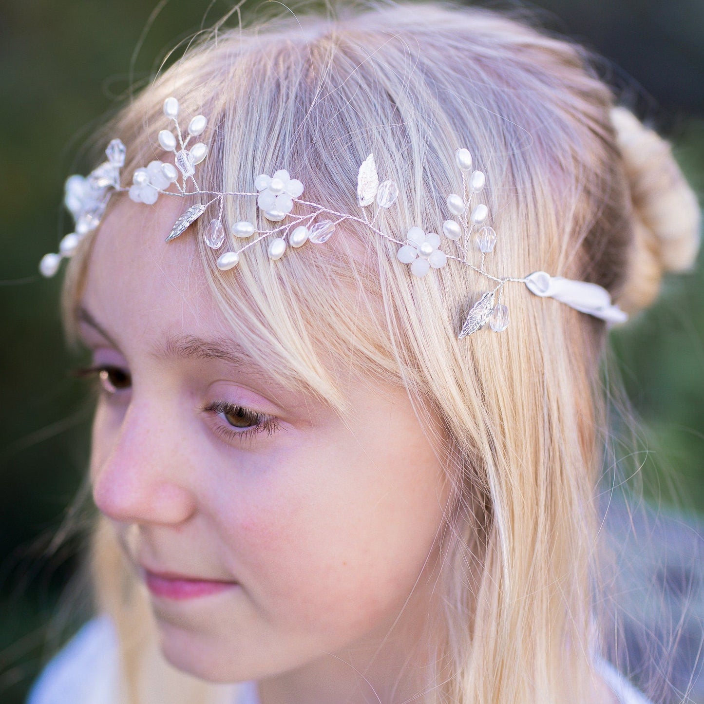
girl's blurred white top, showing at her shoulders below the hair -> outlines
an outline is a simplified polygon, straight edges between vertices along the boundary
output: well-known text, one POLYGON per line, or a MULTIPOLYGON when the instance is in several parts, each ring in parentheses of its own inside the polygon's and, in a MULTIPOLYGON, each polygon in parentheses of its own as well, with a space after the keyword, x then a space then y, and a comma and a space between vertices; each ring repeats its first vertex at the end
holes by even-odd
MULTIPOLYGON (((606 660, 596 667, 621 704, 653 704, 606 660)), ((115 704, 118 641, 108 615, 95 617, 44 667, 27 704, 115 704)), ((232 704, 260 704, 256 682, 244 682, 232 704)))

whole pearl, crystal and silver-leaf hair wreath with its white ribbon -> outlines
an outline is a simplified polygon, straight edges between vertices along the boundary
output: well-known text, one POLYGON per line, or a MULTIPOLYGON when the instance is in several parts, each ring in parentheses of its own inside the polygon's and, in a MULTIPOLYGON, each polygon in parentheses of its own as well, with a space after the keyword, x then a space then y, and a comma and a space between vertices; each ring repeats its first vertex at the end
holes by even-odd
POLYGON ((494 277, 484 270, 486 254, 494 251, 496 232, 486 224, 489 209, 479 202, 479 194, 484 189, 484 173, 472 170, 472 156, 467 149, 455 152, 455 161, 462 175, 463 194, 447 196, 447 208, 453 218, 445 220, 442 232, 449 240, 442 244, 435 232, 425 232, 422 227, 411 227, 406 232, 405 239, 396 239, 376 226, 380 208, 390 208, 398 198, 398 186, 394 181, 379 183, 374 155, 367 156, 359 168, 357 180, 357 201, 361 217, 348 213, 338 213, 324 208, 318 203, 301 199, 303 184, 292 179, 289 172, 279 169, 272 176, 261 174, 254 180, 256 192, 239 193, 230 191, 202 191, 194 177, 196 165, 208 154, 208 146, 198 142, 187 149, 194 137, 199 137, 206 130, 208 120, 203 115, 196 115, 188 125, 188 133, 184 139, 179 122, 179 103, 175 98, 164 102, 164 114, 173 123, 172 130, 161 130, 158 142, 165 151, 174 153, 174 164, 152 161, 146 168, 134 172, 132 185, 129 188, 120 186, 120 168, 125 165, 125 145, 119 139, 113 139, 106 149, 108 161, 94 169, 88 177, 74 175, 68 178, 65 185, 65 205, 75 220, 75 232, 67 234, 59 246, 59 253, 44 255, 39 270, 46 277, 53 276, 58 270, 62 258, 70 257, 77 244, 85 234, 98 227, 100 220, 114 191, 127 191, 136 203, 156 203, 159 194, 167 196, 204 196, 205 203, 197 203, 188 208, 178 218, 172 227, 166 241, 180 237, 189 225, 192 225, 203 215, 208 206, 219 203, 218 217, 210 220, 205 233, 206 244, 214 250, 220 249, 225 242, 225 225, 222 222, 222 211, 225 196, 256 197, 257 205, 263 211, 264 217, 271 222, 285 220, 283 225, 272 230, 257 230, 253 223, 246 220, 232 225, 232 234, 249 242, 237 251, 227 251, 218 257, 220 270, 232 269, 239 262, 241 253, 265 237, 272 238, 268 246, 268 254, 272 260, 279 259, 289 246, 298 248, 306 241, 313 244, 325 243, 335 232, 335 228, 344 220, 353 220, 366 225, 372 232, 398 244, 398 260, 410 265, 410 272, 417 276, 425 276, 431 269, 440 269, 448 259, 454 259, 470 266, 474 271, 489 277, 496 286, 487 291, 474 303, 467 313, 464 325, 458 337, 471 334, 484 327, 486 322, 495 332, 501 332, 508 326, 508 308, 501 303, 503 285, 508 281, 523 282, 529 291, 536 296, 551 296, 572 308, 595 315, 609 324, 624 322, 628 316, 618 306, 611 304, 609 292, 598 284, 574 281, 560 276, 551 276, 544 271, 536 271, 522 277, 494 277), (188 190, 189 182, 194 189, 188 190), (166 191, 175 184, 177 191, 166 191), (294 203, 302 214, 291 215, 294 203), (375 213, 368 214, 368 208, 375 207, 375 213), (254 239, 252 238, 254 235, 254 239), (455 253, 445 251, 446 246, 455 253), (470 262, 470 254, 474 246, 482 253, 479 267, 470 262), (498 301, 497 301, 498 295, 498 301))

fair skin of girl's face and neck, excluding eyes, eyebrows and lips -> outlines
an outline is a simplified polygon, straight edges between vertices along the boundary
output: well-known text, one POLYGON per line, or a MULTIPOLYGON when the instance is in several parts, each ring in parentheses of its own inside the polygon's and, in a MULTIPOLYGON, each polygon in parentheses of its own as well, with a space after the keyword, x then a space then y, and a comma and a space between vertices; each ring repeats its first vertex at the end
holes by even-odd
POLYGON ((82 334, 94 362, 124 368, 132 386, 103 393, 96 410, 96 505, 133 562, 240 584, 185 602, 150 596, 173 665, 258 679, 263 704, 364 701, 364 687, 384 700, 430 608, 448 503, 441 448, 404 389, 351 379, 343 422, 222 360, 154 358, 168 333, 222 334, 191 265, 193 232, 164 242, 183 207, 124 199, 97 234, 82 303, 118 348, 87 325, 82 334), (224 439, 215 427, 226 422, 202 410, 219 400, 281 429, 224 439))

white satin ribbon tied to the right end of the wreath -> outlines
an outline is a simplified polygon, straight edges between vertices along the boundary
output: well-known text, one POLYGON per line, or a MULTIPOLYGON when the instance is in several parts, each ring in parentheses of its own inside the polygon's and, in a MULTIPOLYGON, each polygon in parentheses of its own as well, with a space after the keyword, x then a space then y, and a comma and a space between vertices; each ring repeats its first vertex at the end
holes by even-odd
POLYGON ((612 305, 611 295, 599 284, 551 276, 544 271, 529 274, 524 278, 524 282, 529 291, 536 296, 551 296, 582 313, 596 315, 596 318, 610 323, 628 320, 627 313, 618 306, 612 305))

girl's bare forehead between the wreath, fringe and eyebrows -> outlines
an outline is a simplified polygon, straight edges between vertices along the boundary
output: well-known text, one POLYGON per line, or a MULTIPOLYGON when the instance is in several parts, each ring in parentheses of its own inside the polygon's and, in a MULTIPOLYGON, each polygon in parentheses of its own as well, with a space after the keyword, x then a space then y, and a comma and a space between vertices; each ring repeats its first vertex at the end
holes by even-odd
POLYGON ((186 207, 175 197, 161 196, 153 206, 120 197, 101 222, 87 267, 81 303, 94 318, 108 327, 129 325, 137 338, 184 332, 211 337, 218 329, 222 315, 195 231, 165 242, 186 207))

